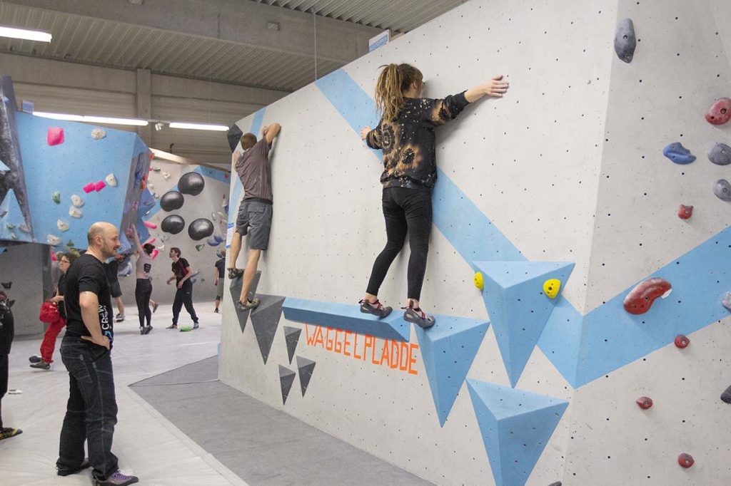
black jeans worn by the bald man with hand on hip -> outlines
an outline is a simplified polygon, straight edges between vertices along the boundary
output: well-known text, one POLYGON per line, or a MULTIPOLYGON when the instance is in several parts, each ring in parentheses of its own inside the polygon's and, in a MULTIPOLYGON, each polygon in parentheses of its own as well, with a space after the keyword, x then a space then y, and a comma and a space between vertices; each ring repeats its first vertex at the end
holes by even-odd
POLYGON ((69 402, 56 466, 59 470, 78 468, 84 460, 86 440, 94 477, 106 479, 118 469, 112 454, 117 423, 112 357, 105 347, 65 336, 61 360, 69 371, 69 402))

